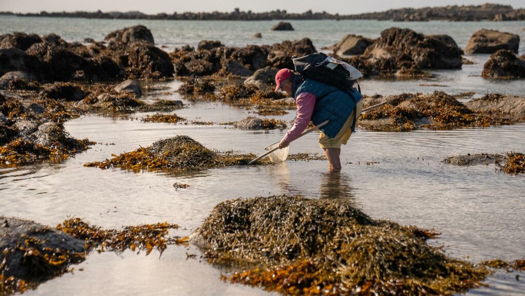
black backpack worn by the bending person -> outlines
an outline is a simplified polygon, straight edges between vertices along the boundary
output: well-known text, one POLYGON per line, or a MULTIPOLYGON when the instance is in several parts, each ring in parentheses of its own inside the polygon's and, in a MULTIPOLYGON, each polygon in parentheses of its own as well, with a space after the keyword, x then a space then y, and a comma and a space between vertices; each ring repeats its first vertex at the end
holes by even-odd
MULTIPOLYGON (((351 90, 356 79, 363 77, 358 69, 323 53, 292 57, 297 73, 324 84, 336 86, 342 90, 351 90)), ((359 93, 361 87, 358 85, 359 93)))

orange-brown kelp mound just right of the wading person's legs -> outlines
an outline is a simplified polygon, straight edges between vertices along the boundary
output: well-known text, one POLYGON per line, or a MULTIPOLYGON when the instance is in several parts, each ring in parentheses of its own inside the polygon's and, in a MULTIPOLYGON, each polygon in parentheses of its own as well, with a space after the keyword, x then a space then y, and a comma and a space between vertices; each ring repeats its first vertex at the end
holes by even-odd
MULTIPOLYGON (((370 99, 370 105, 376 99, 370 99)), ((407 131, 418 128, 452 129, 513 124, 511 119, 487 115, 467 108, 454 96, 442 91, 433 94, 401 94, 386 98, 387 103, 363 114, 364 129, 407 131)))

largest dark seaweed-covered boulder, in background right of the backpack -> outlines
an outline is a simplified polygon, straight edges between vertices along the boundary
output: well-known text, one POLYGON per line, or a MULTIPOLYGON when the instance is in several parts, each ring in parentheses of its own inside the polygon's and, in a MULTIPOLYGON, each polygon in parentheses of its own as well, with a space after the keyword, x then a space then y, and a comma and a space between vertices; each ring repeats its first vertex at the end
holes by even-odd
POLYGON ((411 29, 389 28, 365 50, 375 59, 407 60, 424 69, 461 68, 461 49, 446 35, 425 36, 411 29))

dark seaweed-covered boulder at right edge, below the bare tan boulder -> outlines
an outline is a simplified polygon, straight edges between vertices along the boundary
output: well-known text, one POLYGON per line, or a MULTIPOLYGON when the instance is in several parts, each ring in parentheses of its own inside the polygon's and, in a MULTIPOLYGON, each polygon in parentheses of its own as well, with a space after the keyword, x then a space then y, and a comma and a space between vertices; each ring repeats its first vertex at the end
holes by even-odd
POLYGON ((500 49, 485 63, 481 76, 495 79, 523 78, 525 55, 516 56, 511 50, 500 49))

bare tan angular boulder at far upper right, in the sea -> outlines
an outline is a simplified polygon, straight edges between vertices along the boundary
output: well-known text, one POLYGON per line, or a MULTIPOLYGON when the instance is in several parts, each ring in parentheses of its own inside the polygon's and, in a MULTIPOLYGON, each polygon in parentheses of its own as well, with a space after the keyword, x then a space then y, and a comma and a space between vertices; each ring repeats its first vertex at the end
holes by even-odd
POLYGON ((497 30, 480 29, 468 40, 465 52, 468 54, 493 54, 499 49, 518 53, 520 36, 497 30))

